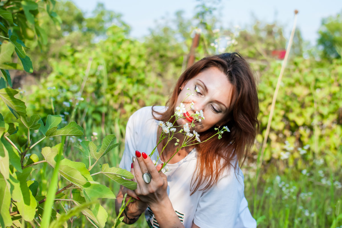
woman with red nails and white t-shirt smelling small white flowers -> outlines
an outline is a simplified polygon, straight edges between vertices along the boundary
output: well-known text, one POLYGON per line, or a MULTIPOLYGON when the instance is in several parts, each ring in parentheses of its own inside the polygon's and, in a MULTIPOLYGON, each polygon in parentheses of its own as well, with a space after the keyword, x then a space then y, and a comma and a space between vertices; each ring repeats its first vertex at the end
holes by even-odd
MULTIPOLYGON (((144 107, 127 123, 120 167, 129 170, 131 166, 137 189, 121 186, 117 213, 127 193, 134 198, 124 210, 123 221, 127 224, 145 212, 150 227, 256 227, 244 197, 244 176, 239 168, 259 128, 257 87, 249 64, 238 53, 204 58, 181 75, 167 105, 144 107), (188 89, 195 91, 194 96, 187 95, 188 89), (152 160, 157 160, 166 142, 158 145, 158 153, 151 158, 147 154, 161 134, 158 121, 169 121, 180 103, 187 112, 184 118, 177 119, 176 132, 193 122, 195 126, 190 129, 200 134, 202 143, 182 148, 172 157, 177 141, 170 141, 159 160, 163 163, 172 157, 169 171, 158 173, 162 164, 155 166, 152 160), (205 118, 194 121, 191 115, 200 110, 205 118), (217 132, 215 128, 224 126, 230 132, 224 132, 221 139, 213 137, 203 142, 217 132), (150 182, 143 179, 145 173, 150 174, 150 182)), ((181 144, 184 135, 176 137, 181 144)))

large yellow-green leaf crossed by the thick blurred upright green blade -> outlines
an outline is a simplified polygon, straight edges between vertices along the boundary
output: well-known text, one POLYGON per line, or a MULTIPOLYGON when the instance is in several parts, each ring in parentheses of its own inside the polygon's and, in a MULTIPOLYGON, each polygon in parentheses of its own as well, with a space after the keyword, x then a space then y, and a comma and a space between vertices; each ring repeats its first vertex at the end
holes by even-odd
MULTIPOLYGON (((42 154, 45 160, 53 167, 55 167, 55 156, 57 155, 57 149, 55 147, 44 147, 42 149, 42 154)), ((93 178, 90 176, 86 165, 82 162, 74 162, 68 159, 61 160, 59 167, 60 174, 71 183, 74 183, 76 186, 86 185, 87 182, 93 181, 93 178)))

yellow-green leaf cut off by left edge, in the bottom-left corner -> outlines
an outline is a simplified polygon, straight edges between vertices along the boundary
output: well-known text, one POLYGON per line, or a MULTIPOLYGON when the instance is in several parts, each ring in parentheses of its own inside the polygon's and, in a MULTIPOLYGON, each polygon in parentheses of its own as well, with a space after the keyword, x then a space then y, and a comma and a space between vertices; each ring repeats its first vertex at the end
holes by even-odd
POLYGON ((0 174, 0 225, 7 227, 12 225, 10 211, 11 193, 7 187, 5 178, 0 174))

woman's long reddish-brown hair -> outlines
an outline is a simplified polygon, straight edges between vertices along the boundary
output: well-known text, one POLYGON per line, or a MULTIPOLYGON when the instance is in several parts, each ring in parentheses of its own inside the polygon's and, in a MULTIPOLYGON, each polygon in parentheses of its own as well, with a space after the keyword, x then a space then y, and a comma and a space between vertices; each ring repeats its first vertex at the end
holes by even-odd
MULTIPOLYGON (((186 81, 210 67, 218 68, 233 85, 231 105, 224 124, 230 129, 230 132, 224 132, 221 139, 213 137, 207 142, 195 145, 198 159, 197 172, 192 179, 192 193, 200 187, 200 190, 205 190, 216 184, 220 174, 227 167, 233 166, 236 169, 239 164, 242 165, 251 151, 259 130, 257 118, 259 102, 255 78, 248 62, 236 52, 203 58, 186 69, 177 80, 173 93, 166 103, 169 106, 168 110, 164 113, 153 111, 160 115, 155 119, 168 121, 174 114, 177 97, 180 93, 179 88, 183 83, 185 84, 186 81)), ((201 141, 215 134, 217 131, 214 128, 215 126, 201 132, 201 141)))

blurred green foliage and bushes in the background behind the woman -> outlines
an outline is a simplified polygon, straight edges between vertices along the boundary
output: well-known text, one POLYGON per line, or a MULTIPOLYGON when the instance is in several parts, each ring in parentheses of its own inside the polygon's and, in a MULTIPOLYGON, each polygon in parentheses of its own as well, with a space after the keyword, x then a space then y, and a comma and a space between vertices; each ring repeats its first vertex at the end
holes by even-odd
MULTIPOLYGON (((249 183, 257 181, 253 179, 255 164, 281 68, 281 61, 272 56, 272 51, 286 48, 287 34, 276 23, 258 21, 250 28, 224 28, 215 17, 219 7, 220 1, 199 1, 194 18, 185 18, 179 11, 173 18, 160 20, 149 36, 138 41, 129 37, 129 25, 121 20, 121 15, 107 11, 102 4, 86 18, 72 2, 56 2, 54 11, 61 18, 58 29, 51 29, 54 23, 47 20, 48 14, 39 14, 39 26, 46 31, 49 42, 41 48, 38 41, 27 41, 31 42, 31 49, 26 52, 33 60, 34 83, 29 85, 28 76, 10 71, 12 77, 22 78, 17 87, 21 87, 19 96, 27 104, 27 113, 39 114, 43 119, 48 114, 59 114, 64 122, 75 120, 84 128, 85 137, 93 141, 97 137, 92 132, 101 132, 102 136, 114 133, 121 144, 106 162, 117 166, 128 117, 142 106, 165 104, 175 80, 185 70, 192 38, 199 33, 196 60, 237 51, 250 62, 259 81, 261 132, 244 170, 245 195, 258 223, 264 227, 338 224, 341 202, 334 199, 341 195, 338 183, 342 178, 342 60, 333 53, 341 47, 340 14, 322 21, 319 46, 312 50, 304 50, 307 47, 303 47, 300 30, 296 30, 277 97, 262 178, 258 188, 253 189, 249 183), (323 61, 317 62, 314 55, 303 57, 305 51, 315 53, 318 48, 322 49, 323 61), (302 170, 307 170, 304 178, 302 170), (324 172, 324 183, 317 172, 324 172), (290 187, 275 182, 276 175, 286 179, 290 187), (290 194, 295 198, 293 202, 283 199, 286 189, 293 186, 297 188, 290 194), (267 188, 273 191, 267 193, 267 188), (322 191, 329 193, 319 207, 324 213, 315 207, 320 197, 300 198, 302 192, 322 191), (316 215, 303 218, 309 202, 309 209, 316 210, 316 215), (296 210, 298 204, 305 210, 296 210)), ((0 112, 4 108, 0 107, 0 112)), ((69 142, 73 140, 69 138, 69 142)), ((77 148, 70 144, 65 156, 81 160, 75 153, 77 148)), ((37 179, 46 181, 45 168, 42 170, 37 179)), ((107 186, 118 187, 113 182, 107 182, 107 186)), ((110 203, 104 207, 108 214, 115 214, 110 203)), ((108 224, 112 225, 114 219, 114 215, 109 216, 108 224)), ((85 219, 80 220, 82 223, 85 219)))

